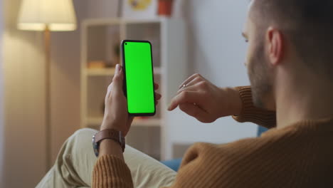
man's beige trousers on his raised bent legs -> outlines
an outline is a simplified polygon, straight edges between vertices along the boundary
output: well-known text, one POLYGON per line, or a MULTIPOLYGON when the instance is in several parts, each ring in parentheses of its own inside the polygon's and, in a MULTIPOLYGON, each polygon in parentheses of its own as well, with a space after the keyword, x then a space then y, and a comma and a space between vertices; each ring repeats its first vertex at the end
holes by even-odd
MULTIPOLYGON (((97 157, 92 138, 96 130, 78 130, 63 144, 56 163, 37 187, 90 187, 97 157)), ((126 146, 125 162, 131 170, 134 187, 167 187, 176 172, 152 157, 126 146)))

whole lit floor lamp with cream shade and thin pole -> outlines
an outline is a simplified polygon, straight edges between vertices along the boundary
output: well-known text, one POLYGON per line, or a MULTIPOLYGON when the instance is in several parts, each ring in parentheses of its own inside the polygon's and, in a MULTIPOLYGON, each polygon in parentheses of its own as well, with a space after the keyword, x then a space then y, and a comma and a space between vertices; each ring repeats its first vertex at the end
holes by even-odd
POLYGON ((17 27, 43 31, 46 61, 46 168, 51 167, 51 31, 74 31, 75 10, 72 0, 22 0, 17 27))

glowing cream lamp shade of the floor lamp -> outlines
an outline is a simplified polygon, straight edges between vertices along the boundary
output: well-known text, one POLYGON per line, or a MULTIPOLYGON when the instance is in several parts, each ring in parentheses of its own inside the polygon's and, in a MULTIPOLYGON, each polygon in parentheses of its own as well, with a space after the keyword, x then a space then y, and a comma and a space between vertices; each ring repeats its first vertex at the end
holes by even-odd
POLYGON ((22 0, 18 29, 73 31, 76 17, 72 0, 22 0))

